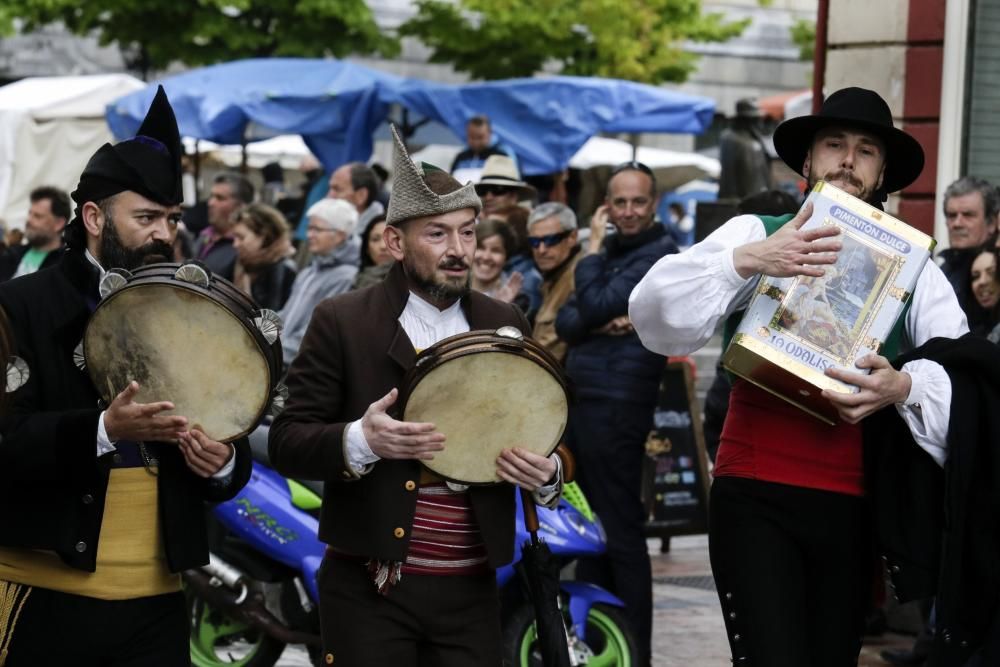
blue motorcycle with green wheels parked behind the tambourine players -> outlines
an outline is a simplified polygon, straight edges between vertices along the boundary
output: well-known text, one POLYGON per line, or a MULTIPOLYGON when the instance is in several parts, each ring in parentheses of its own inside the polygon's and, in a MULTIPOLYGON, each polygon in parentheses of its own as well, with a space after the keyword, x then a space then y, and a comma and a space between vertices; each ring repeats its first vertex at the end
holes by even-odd
MULTIPOLYGON (((303 644, 321 664, 316 571, 326 545, 318 540, 322 483, 286 479, 267 459, 267 428, 250 436, 253 474, 232 500, 211 509, 211 561, 184 573, 196 667, 270 667, 288 644, 303 644)), ((524 531, 517 496, 517 544, 524 531)), ((575 484, 559 505, 538 508, 539 535, 566 564, 604 553, 600 520, 575 484)), ((515 550, 520 559, 519 550, 515 550)), ((504 664, 540 666, 534 609, 517 575, 517 560, 497 571, 503 613, 504 664)), ((571 664, 631 667, 636 644, 621 600, 592 584, 560 581, 571 664)))

